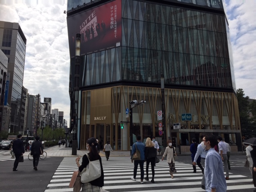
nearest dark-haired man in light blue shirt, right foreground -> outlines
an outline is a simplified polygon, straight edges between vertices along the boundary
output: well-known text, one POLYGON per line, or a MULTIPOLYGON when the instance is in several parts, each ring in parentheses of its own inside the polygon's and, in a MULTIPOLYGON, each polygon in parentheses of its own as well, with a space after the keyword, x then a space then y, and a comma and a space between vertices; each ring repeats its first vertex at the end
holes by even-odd
POLYGON ((208 151, 205 158, 204 177, 206 192, 226 192, 227 184, 224 176, 222 159, 214 146, 217 139, 214 135, 208 134, 203 138, 205 150, 208 151))

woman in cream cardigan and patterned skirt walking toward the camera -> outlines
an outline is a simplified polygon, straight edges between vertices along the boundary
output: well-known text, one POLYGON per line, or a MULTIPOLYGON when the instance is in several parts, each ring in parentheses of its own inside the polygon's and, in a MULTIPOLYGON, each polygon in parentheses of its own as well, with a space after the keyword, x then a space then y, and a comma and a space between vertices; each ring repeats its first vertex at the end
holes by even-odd
POLYGON ((164 157, 167 154, 167 159, 166 161, 168 162, 169 168, 170 168, 170 175, 173 177, 173 173, 176 173, 176 169, 175 169, 175 160, 174 160, 174 156, 176 156, 176 151, 175 151, 175 147, 172 146, 172 140, 168 140, 167 141, 168 146, 165 148, 163 157, 162 157, 162 161, 164 160, 164 157))

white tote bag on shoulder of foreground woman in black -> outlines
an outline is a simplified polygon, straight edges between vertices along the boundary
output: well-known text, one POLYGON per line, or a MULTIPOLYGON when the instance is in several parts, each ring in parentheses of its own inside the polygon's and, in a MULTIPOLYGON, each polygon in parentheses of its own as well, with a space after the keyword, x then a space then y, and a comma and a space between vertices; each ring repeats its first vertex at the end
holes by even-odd
POLYGON ((81 172, 81 182, 88 183, 101 176, 100 160, 90 161, 88 154, 86 154, 89 159, 89 164, 81 172))

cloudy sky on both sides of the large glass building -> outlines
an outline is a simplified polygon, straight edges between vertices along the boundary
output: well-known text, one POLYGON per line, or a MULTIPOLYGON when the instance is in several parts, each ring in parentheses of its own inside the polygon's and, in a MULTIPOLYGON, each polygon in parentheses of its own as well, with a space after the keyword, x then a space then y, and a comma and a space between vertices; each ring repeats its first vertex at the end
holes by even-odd
MULTIPOLYGON (((256 99, 256 0, 223 0, 233 50, 236 89, 256 99)), ((27 39, 23 86, 52 98, 68 121, 70 58, 67 0, 0 0, 0 20, 18 22, 27 39)))

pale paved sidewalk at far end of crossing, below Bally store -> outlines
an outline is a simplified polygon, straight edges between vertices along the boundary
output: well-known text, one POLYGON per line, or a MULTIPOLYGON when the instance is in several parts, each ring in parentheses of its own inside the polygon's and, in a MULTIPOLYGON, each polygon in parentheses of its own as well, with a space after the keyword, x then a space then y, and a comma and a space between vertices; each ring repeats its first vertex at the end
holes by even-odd
MULTIPOLYGON (((88 153, 87 150, 77 150, 77 155, 72 155, 72 147, 65 147, 65 146, 53 146, 49 148, 44 148, 44 151, 47 152, 47 156, 49 157, 78 157, 84 156, 84 154, 88 153)), ((25 152, 28 155, 30 152, 25 152)), ((110 151, 110 155, 114 156, 130 156, 130 151, 110 151)), ((100 151, 100 156, 105 157, 105 153, 100 151)))

